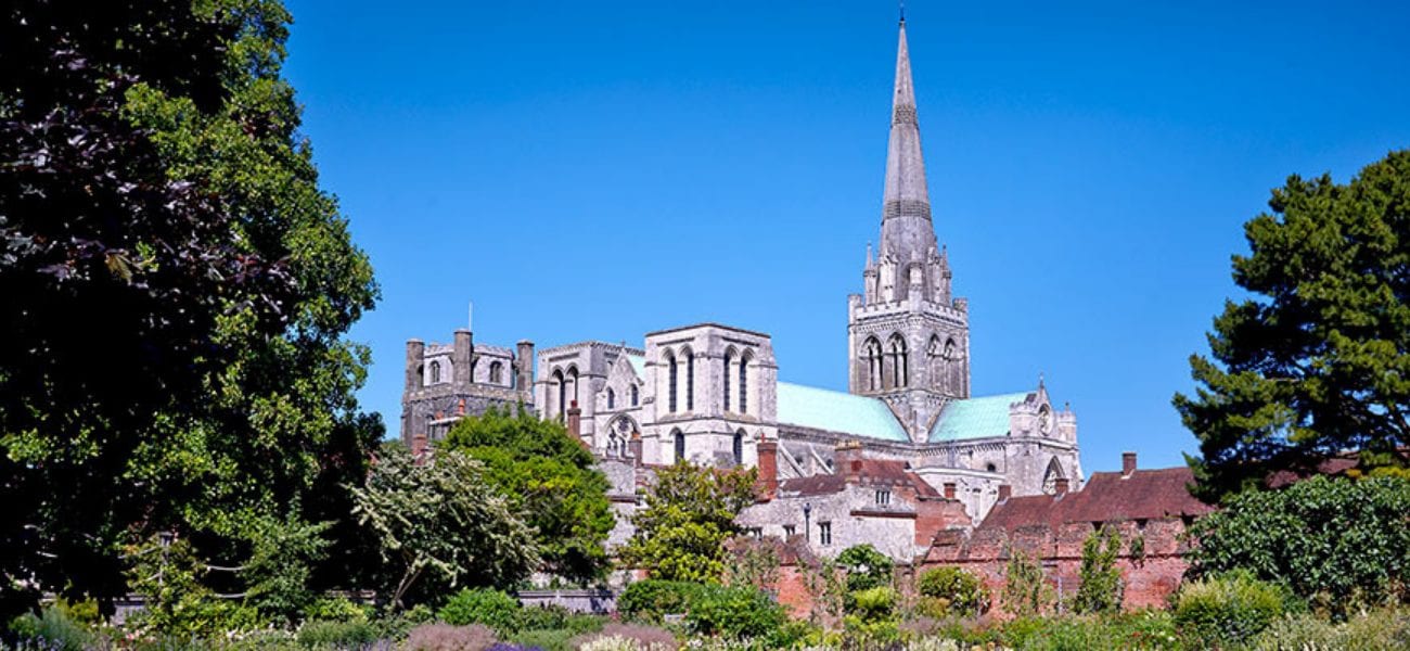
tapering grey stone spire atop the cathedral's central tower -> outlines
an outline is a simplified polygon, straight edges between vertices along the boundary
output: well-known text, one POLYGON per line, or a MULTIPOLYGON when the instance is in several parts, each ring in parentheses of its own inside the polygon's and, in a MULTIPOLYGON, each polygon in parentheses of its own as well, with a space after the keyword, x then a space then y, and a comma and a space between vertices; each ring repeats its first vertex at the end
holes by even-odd
POLYGON ((891 140, 885 156, 885 192, 881 209, 881 251, 907 261, 935 248, 931 197, 925 187, 921 128, 915 117, 911 54, 905 44, 905 18, 895 56, 895 93, 891 101, 891 140))

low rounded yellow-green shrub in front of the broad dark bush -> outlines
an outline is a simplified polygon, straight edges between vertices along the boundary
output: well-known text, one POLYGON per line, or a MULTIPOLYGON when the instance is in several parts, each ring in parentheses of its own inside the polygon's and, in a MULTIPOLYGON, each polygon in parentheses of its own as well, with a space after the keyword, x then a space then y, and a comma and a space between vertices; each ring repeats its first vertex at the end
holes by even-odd
POLYGON ((1252 641, 1293 603, 1285 588, 1239 571, 1184 583, 1175 595, 1173 613, 1187 643, 1230 647, 1252 641))

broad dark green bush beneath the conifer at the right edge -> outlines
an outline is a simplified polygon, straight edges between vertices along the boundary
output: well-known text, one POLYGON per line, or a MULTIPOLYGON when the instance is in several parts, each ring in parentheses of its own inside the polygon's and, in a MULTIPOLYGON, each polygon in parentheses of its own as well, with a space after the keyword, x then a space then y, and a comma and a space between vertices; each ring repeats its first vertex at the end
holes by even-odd
POLYGON ((1238 568, 1344 613, 1406 599, 1410 480, 1316 476, 1276 492, 1245 492, 1190 530, 1204 574, 1238 568))

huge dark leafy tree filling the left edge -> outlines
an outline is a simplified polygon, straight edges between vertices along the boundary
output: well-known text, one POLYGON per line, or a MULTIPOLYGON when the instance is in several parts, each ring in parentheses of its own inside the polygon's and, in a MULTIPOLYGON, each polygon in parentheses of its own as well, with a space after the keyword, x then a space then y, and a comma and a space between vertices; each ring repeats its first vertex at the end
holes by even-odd
POLYGON ((157 531, 241 566, 345 514, 376 287, 298 134, 288 13, 0 11, 0 612, 124 593, 157 531))

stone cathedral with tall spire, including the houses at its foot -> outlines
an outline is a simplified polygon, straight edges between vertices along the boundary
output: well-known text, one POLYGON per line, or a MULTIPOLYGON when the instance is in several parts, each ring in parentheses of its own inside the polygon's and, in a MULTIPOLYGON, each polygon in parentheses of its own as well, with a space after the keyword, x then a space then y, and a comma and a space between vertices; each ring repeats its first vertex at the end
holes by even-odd
MULTIPOLYGON (((849 390, 781 382, 767 333, 702 323, 640 347, 580 341, 534 351, 406 345, 402 437, 434 444, 465 414, 525 404, 563 421, 602 459, 619 513, 653 466, 757 466, 766 497, 742 524, 911 558, 938 530, 973 527, 1010 496, 1083 482, 1077 420, 1039 379, 970 393, 969 302, 953 296, 921 154, 905 23, 900 28, 881 234, 847 296, 849 390)), ((629 533, 629 523, 613 534, 629 533)))

